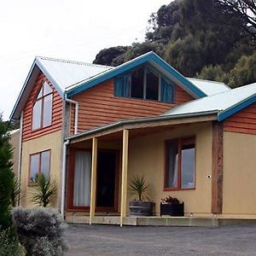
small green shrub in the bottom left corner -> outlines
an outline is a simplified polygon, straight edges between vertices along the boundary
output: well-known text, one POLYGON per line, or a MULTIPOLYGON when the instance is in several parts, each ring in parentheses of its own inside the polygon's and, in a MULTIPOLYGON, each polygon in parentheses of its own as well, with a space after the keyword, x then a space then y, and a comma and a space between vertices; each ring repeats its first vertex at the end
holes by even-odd
POLYGON ((21 256, 25 250, 20 246, 18 237, 10 229, 0 230, 0 256, 21 256))

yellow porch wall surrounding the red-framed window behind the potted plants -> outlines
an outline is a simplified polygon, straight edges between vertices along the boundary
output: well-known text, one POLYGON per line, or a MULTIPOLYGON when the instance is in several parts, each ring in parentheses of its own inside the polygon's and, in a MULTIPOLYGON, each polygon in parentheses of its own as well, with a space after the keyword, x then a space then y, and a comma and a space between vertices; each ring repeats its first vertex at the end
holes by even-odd
MULTIPOLYGON (((184 201, 185 212, 195 215, 210 214, 212 208, 212 123, 183 125, 145 137, 131 138, 129 143, 128 178, 144 174, 150 185, 150 199, 155 212, 160 212, 160 199, 167 195, 184 201), (196 137, 195 189, 163 191, 165 174, 165 141, 177 137, 196 137)), ((131 195, 128 193, 128 199, 131 195)), ((129 201, 129 200, 128 200, 129 201)))

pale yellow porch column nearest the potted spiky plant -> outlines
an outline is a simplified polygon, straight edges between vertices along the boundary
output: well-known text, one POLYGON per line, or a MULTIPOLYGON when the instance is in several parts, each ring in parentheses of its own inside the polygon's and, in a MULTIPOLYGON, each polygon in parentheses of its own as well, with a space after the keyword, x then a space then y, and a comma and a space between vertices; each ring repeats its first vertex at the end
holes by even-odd
POLYGON ((126 216, 127 207, 127 167, 128 167, 128 141, 129 131, 123 131, 123 156, 122 156, 122 189, 121 189, 121 215, 120 226, 123 226, 123 220, 126 216))

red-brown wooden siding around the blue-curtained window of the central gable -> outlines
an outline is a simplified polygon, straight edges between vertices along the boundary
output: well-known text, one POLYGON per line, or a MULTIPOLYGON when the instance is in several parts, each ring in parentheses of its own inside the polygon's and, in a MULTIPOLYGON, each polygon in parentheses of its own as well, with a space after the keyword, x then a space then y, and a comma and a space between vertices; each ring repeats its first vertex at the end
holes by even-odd
MULTIPOLYGON (((174 98, 175 103, 165 103, 113 96, 112 79, 73 96, 73 100, 79 102, 79 132, 113 123, 119 119, 159 115, 178 104, 193 100, 178 86, 175 88, 174 98)), ((73 134, 73 116, 74 109, 72 108, 71 134, 73 134)))

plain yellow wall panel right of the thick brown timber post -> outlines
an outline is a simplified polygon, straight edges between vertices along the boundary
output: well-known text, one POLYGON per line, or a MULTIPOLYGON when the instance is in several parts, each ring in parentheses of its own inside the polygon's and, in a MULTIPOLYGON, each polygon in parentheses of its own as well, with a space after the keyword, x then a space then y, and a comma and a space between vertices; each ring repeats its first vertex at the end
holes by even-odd
POLYGON ((224 131, 223 213, 256 215, 256 136, 224 131))

